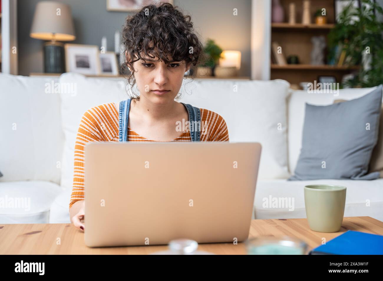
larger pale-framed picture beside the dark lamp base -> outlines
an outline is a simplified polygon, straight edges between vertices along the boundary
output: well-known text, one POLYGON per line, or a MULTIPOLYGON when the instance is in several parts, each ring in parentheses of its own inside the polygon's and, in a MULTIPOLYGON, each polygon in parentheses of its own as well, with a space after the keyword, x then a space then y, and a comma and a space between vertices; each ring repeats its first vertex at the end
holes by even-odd
POLYGON ((66 72, 99 75, 100 51, 96 45, 64 44, 66 72))

